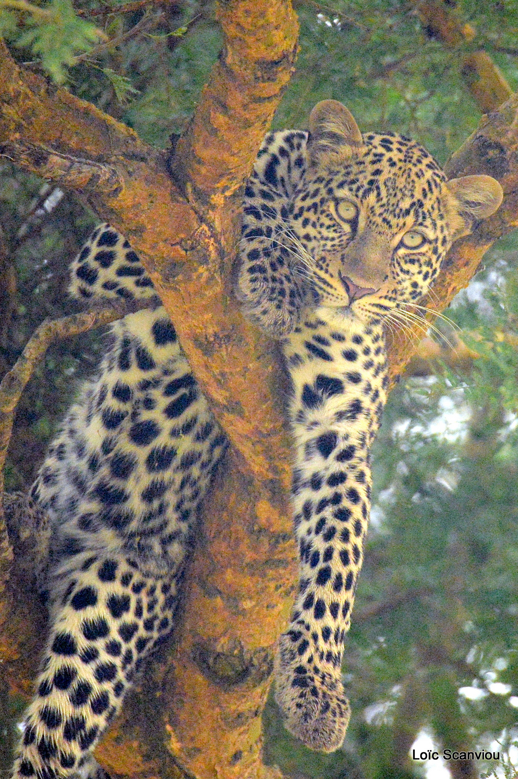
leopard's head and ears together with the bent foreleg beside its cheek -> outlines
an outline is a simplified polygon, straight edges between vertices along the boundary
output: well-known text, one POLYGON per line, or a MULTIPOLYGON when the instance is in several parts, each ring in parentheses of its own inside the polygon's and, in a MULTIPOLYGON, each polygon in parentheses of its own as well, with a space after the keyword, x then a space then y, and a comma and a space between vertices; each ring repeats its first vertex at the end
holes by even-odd
POLYGON ((418 143, 362 136, 336 100, 313 108, 309 130, 272 133, 257 156, 237 297, 275 338, 308 308, 326 308, 321 319, 408 322, 451 243, 497 210, 502 187, 485 175, 446 181, 418 143))

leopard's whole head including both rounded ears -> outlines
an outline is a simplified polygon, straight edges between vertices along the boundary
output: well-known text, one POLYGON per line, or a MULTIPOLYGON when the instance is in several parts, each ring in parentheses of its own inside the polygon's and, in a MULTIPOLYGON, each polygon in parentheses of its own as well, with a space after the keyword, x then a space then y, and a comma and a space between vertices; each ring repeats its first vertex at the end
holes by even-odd
POLYGON ((288 231, 296 268, 317 306, 363 319, 415 305, 452 242, 502 202, 490 176, 448 182, 415 141, 362 136, 336 100, 313 108, 306 155, 288 231))

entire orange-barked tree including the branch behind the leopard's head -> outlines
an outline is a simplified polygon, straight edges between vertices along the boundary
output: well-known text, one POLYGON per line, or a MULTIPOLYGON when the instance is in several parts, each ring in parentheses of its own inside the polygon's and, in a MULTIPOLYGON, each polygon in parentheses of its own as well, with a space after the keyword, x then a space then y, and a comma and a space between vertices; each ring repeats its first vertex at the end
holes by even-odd
MULTIPOLYGON (((5 46, 0 59, 2 153, 25 171, 81 192, 128 236, 232 443, 225 478, 205 509, 177 643, 159 654, 146 677, 148 693, 131 697, 98 750, 107 770, 132 776, 276 775, 261 761, 260 717, 272 646, 296 577, 285 499, 289 440, 275 400, 282 378, 271 344, 243 321, 230 279, 240 186, 292 75, 297 22, 287 2, 233 0, 217 17, 219 61, 170 160, 110 115, 17 65, 5 46), (150 731, 149 721, 159 726, 150 731)), ((506 199, 495 217, 453 247, 425 303, 431 308, 447 305, 485 250, 516 226, 517 110, 511 97, 450 160, 451 177, 491 174, 506 199)), ((394 341, 394 378, 414 350, 405 334, 394 341)), ((12 376, 4 418, 19 372, 12 376)), ((9 683, 28 692, 42 628, 24 583, 22 548, 11 562, 5 538, 4 531, 2 577, 10 569, 10 579, 0 604, 2 653, 9 683)))

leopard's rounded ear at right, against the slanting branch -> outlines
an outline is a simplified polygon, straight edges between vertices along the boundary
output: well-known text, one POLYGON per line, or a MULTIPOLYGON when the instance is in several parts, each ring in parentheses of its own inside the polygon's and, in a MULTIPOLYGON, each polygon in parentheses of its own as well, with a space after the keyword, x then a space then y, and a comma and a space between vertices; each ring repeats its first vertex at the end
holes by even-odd
POLYGON ((491 176, 464 176, 452 178, 446 187, 453 195, 453 204, 460 220, 456 238, 471 232, 475 220, 486 219, 499 208, 503 189, 491 176))

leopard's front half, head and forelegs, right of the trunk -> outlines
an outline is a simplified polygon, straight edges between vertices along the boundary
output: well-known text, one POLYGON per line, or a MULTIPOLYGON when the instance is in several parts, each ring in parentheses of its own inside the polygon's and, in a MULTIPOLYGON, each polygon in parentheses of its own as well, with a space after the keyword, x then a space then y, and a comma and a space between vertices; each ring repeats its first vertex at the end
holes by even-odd
POLYGON ((341 666, 387 399, 387 330, 420 319, 446 252, 495 213, 490 176, 446 181, 418 143, 362 135, 324 100, 309 132, 266 136, 243 205, 237 296, 280 340, 291 380, 299 587, 275 653, 285 727, 334 752, 351 711, 341 666))

